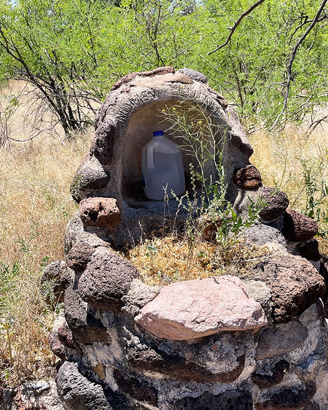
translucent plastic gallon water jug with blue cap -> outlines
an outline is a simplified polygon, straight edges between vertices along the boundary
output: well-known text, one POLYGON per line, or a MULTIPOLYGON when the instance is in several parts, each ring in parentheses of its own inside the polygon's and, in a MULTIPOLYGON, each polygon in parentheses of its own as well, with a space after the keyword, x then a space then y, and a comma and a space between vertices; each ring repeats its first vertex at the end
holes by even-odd
POLYGON ((165 138, 163 131, 155 131, 153 139, 142 148, 142 186, 149 199, 165 199, 182 195, 186 190, 181 150, 165 138))

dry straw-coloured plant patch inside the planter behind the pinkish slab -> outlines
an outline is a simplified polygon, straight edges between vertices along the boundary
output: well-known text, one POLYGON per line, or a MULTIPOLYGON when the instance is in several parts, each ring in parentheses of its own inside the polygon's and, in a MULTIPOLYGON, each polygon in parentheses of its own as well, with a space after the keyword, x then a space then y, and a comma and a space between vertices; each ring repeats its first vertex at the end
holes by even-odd
POLYGON ((247 276, 258 258, 270 252, 267 247, 244 245, 242 241, 233 241, 227 251, 201 235, 190 243, 187 236, 169 234, 142 240, 126 256, 144 282, 165 285, 223 274, 247 276))

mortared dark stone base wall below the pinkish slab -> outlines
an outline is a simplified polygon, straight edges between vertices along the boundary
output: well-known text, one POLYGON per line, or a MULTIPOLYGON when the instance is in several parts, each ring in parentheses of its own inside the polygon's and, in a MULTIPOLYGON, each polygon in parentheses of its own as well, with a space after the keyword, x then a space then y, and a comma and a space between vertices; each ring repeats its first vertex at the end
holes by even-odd
POLYGON ((85 332, 81 317, 78 330, 70 320, 79 348, 67 348, 57 377, 67 410, 328 408, 320 300, 296 321, 181 342, 157 339, 127 315, 89 309, 85 332))

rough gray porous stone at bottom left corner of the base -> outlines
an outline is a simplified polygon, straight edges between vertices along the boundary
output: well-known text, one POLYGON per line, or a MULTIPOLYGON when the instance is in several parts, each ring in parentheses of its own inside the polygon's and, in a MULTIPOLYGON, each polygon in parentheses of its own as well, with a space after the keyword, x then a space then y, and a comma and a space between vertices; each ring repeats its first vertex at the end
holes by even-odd
POLYGON ((77 363, 60 366, 57 387, 66 410, 112 410, 103 388, 81 375, 77 363))

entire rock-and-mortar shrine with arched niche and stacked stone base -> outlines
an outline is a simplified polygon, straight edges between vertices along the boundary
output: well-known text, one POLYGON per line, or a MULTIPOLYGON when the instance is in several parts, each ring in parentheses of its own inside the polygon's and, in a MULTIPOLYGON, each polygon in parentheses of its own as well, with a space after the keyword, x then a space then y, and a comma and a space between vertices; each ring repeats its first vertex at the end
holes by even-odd
MULTIPOLYGON (((65 288, 64 314, 50 335, 64 408, 327 409, 327 259, 313 239, 317 226, 288 209, 284 193, 262 186, 249 163, 250 142, 224 98, 193 70, 133 73, 114 84, 95 128, 72 182, 79 210, 66 231, 66 260, 45 270, 65 288), (265 199, 245 238, 272 252, 249 278, 159 288, 113 252, 137 240, 140 225, 152 232, 162 223, 163 203, 142 194, 141 149, 153 130, 166 129, 157 113, 176 101, 204 108, 227 130, 223 167, 235 211, 265 199)), ((183 160, 188 182, 191 157, 183 160)), ((207 172, 215 173, 213 164, 207 172)))

